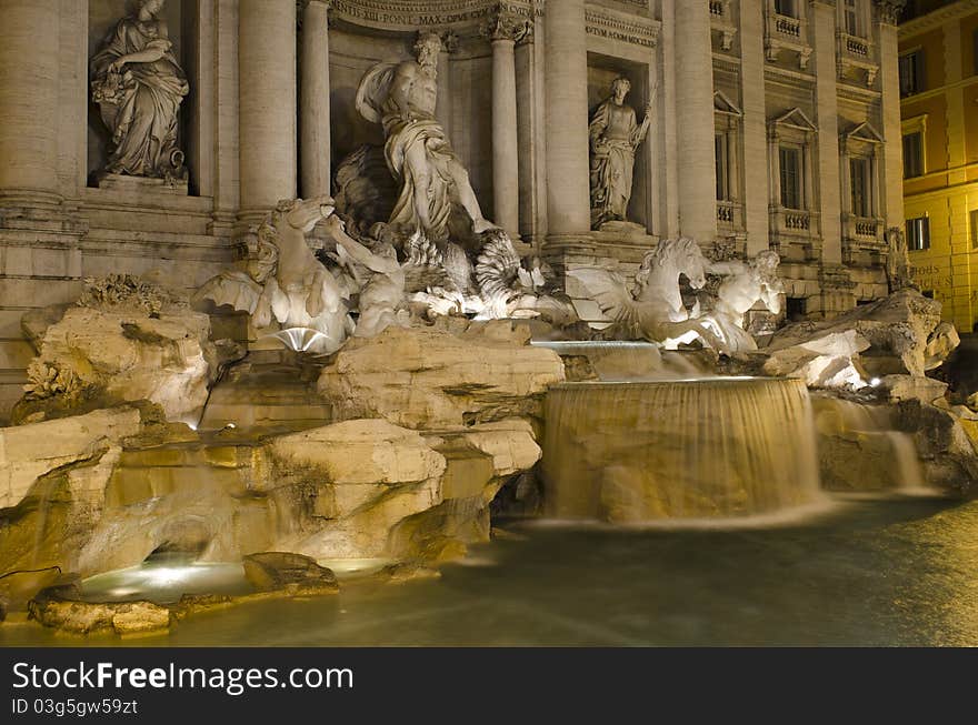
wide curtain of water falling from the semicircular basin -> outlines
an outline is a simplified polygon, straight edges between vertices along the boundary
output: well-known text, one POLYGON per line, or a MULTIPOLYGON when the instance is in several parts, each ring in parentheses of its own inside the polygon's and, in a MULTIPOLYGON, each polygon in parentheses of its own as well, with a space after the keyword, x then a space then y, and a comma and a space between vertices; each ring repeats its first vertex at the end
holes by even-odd
POLYGON ((819 496, 801 381, 566 383, 546 405, 547 513, 629 523, 765 514, 819 496))

